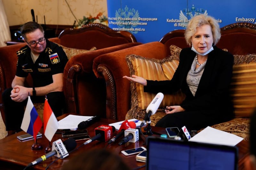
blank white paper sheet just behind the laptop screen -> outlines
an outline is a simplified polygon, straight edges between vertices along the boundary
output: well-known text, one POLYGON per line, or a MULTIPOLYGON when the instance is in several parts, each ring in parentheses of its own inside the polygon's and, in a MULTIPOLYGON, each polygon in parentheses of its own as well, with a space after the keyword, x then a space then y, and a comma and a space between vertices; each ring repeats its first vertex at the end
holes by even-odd
POLYGON ((235 146, 243 139, 244 138, 237 135, 208 126, 204 130, 193 136, 191 139, 189 139, 189 141, 235 146))

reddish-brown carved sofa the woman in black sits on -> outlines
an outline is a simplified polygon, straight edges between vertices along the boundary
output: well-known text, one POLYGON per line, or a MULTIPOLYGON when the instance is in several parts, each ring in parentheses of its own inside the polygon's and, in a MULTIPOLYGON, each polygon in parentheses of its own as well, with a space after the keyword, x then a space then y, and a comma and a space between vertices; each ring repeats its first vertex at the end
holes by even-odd
MULTIPOLYGON (((236 118, 212 127, 239 135, 248 140, 249 117, 256 106, 256 25, 251 23, 230 24, 221 28, 221 34, 217 46, 221 49, 227 49, 235 56, 231 95, 236 118)), ((106 81, 107 115, 117 120, 144 118, 145 114, 140 116, 131 114, 142 111, 131 106, 138 102, 136 101, 139 95, 138 91, 132 94, 132 83, 122 78, 124 75, 130 75, 131 73, 131 69, 127 66, 126 56, 134 54, 144 58, 163 60, 168 56, 176 55, 178 61, 179 52, 176 51, 171 54, 171 45, 181 49, 188 47, 184 38, 184 30, 171 31, 164 35, 159 42, 145 43, 118 50, 94 59, 93 71, 95 75, 106 81), (138 110, 134 111, 134 109, 138 110)), ((143 111, 145 113, 145 110, 143 111)), ((156 114, 151 116, 151 124, 154 126, 164 114, 163 108, 160 108, 156 114)))

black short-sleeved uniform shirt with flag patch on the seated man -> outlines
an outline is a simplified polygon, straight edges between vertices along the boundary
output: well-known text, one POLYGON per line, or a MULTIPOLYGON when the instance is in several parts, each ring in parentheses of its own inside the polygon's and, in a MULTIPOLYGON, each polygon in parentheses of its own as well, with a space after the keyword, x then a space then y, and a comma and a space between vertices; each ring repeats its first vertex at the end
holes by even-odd
POLYGON ((68 58, 63 49, 46 39, 46 48, 36 62, 31 58, 31 50, 26 45, 17 51, 18 61, 16 76, 27 77, 30 73, 34 87, 43 87, 53 82, 52 75, 63 73, 68 58))

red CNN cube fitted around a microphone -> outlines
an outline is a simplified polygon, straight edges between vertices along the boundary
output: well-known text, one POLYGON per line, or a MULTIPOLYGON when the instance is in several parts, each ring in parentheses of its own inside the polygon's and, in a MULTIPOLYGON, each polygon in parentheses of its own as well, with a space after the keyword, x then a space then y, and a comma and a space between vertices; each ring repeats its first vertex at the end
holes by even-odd
POLYGON ((100 138, 98 139, 99 141, 107 142, 113 137, 113 132, 116 130, 116 128, 114 126, 100 125, 94 130, 95 135, 101 134, 100 138))

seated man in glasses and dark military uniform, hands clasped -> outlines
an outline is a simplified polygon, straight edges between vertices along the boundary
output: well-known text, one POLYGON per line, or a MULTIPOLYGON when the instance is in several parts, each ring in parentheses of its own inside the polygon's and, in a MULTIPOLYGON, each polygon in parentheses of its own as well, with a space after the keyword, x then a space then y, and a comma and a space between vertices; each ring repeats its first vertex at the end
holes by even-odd
POLYGON ((56 117, 65 108, 62 84, 68 61, 65 52, 56 43, 45 39, 43 27, 36 22, 25 23, 20 32, 27 45, 17 52, 17 70, 12 88, 2 94, 8 135, 21 131, 28 95, 33 103, 44 103, 46 96, 56 117), (28 74, 33 79, 33 87, 24 86, 28 74))

